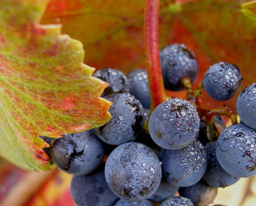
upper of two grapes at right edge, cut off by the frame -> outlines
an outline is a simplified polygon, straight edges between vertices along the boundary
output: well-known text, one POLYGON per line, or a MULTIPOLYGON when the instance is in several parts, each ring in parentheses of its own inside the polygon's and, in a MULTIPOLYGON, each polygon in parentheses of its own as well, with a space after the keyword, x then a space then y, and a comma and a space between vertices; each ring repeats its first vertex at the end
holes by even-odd
POLYGON ((244 124, 256 129, 256 83, 250 84, 240 93, 236 110, 244 124))

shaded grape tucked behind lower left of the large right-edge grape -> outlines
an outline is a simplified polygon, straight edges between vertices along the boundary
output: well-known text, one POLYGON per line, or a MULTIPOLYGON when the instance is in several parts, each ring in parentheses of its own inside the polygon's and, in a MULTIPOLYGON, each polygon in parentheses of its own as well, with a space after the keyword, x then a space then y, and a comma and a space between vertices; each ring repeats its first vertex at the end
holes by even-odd
POLYGON ((228 187, 236 183, 240 178, 227 173, 219 164, 216 157, 217 141, 208 142, 205 146, 207 156, 207 168, 203 180, 211 187, 228 187))

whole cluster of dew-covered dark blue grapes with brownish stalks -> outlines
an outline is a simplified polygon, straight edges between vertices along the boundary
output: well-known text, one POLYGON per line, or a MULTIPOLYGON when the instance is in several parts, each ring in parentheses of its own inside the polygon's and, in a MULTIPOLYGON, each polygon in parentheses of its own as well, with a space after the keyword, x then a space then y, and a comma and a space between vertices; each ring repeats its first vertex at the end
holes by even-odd
MULTIPOLYGON (((166 89, 187 89, 187 100, 170 98, 150 115, 147 72, 137 69, 126 77, 104 68, 94 77, 109 83, 103 96, 113 102, 112 119, 59 139, 41 137, 51 146, 44 149, 53 163, 74 175, 76 205, 208 206, 217 187, 256 174, 256 84, 237 99, 242 120, 237 124, 236 110, 200 106, 200 95, 188 86, 197 76, 197 61, 185 45, 164 47, 160 58, 166 89), (223 114, 233 125, 225 128, 223 114)), ((206 71, 202 84, 210 97, 223 101, 241 88, 242 76, 236 65, 219 62, 206 71)))

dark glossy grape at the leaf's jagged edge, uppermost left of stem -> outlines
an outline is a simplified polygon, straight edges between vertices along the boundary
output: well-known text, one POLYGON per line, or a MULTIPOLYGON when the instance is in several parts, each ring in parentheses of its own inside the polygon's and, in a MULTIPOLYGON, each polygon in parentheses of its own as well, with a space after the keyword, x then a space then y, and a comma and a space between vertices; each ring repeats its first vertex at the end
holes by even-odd
POLYGON ((127 93, 129 91, 127 77, 122 71, 117 69, 103 68, 96 71, 93 77, 99 78, 109 84, 102 92, 102 97, 114 93, 127 93))

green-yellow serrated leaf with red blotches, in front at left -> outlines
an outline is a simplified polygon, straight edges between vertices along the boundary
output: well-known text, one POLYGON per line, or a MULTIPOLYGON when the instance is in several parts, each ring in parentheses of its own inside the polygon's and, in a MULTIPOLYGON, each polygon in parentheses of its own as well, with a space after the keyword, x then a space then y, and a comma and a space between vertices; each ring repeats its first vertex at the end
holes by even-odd
POLYGON ((40 25, 49 0, 0 1, 0 155, 25 169, 48 169, 38 135, 59 137, 109 121, 107 83, 83 64, 83 45, 40 25))

